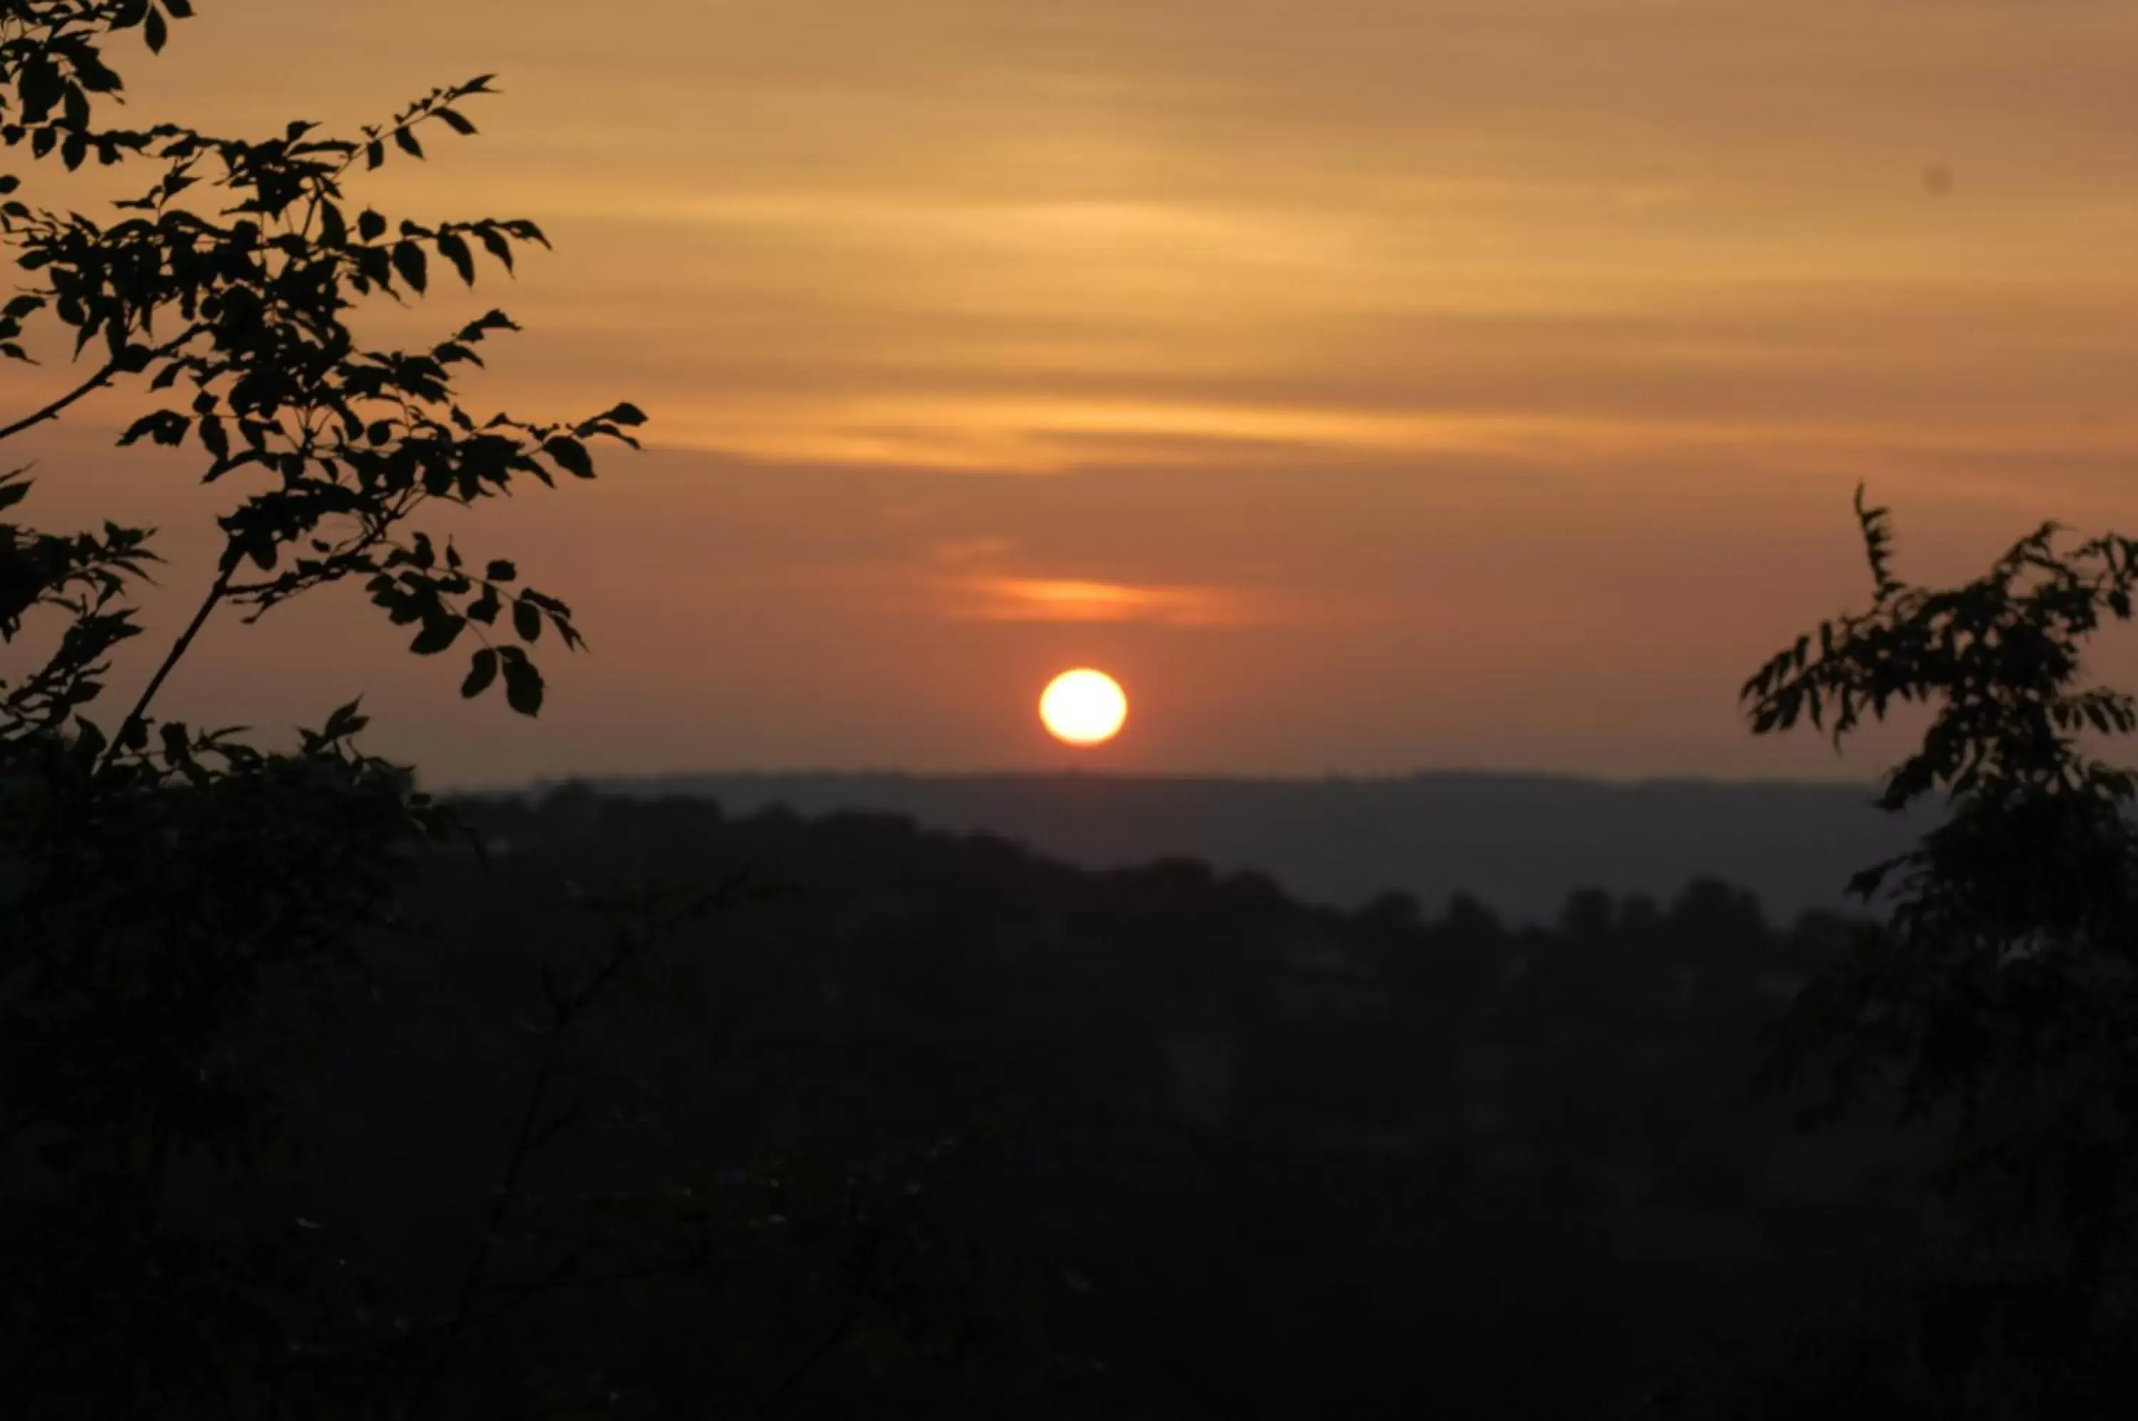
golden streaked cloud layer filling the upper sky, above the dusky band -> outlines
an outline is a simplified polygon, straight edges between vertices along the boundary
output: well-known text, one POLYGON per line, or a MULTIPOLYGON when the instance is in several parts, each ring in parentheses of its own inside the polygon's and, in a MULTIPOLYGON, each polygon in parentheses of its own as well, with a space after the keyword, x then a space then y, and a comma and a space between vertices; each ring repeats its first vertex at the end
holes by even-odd
MULTIPOLYGON (((592 32, 564 0, 370 9, 252 0, 244 32, 346 56, 293 71, 308 113, 505 47, 483 139, 370 182, 543 220, 500 404, 631 395, 676 449, 1437 477, 2018 451, 2127 406, 2123 2, 609 0, 592 32), (417 15, 443 51, 376 38, 417 15), (1963 175, 1948 201, 1926 165, 1963 175)), ((139 105, 282 103, 201 34, 139 105)))

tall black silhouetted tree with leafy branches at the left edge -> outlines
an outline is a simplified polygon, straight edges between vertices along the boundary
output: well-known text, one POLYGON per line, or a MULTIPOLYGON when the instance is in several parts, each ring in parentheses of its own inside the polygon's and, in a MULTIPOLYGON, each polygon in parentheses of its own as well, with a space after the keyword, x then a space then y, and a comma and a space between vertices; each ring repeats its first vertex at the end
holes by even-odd
MULTIPOLYGON (((210 618, 254 622, 353 579, 415 630, 413 652, 481 643, 462 694, 502 684, 537 714, 530 647, 545 630, 577 647, 571 609, 423 521, 522 477, 590 479, 588 442, 631 442, 644 421, 629 404, 575 423, 462 408, 455 368, 515 329, 502 312, 417 350, 366 348, 348 327, 368 297, 421 295, 438 269, 475 284, 477 252, 511 269, 545 244, 528 220, 396 222, 353 199, 428 135, 472 132, 462 105, 487 79, 353 137, 113 126, 113 41, 160 51, 190 15, 188 0, 0 0, 0 141, 47 179, 92 160, 141 171, 111 220, 0 175, 24 282, 0 306, 0 357, 58 350, 81 372, 6 415, 0 440, 126 389, 139 415, 122 447, 188 453, 231 489, 195 611, 115 716, 98 709, 145 630, 130 592, 150 534, 122 513, 79 534, 0 524, 0 1128, 19 1250, 4 1323, 28 1359, 11 1391, 38 1415, 231 1408, 286 1361, 286 1318, 252 1306, 257 1278, 162 1227, 167 1186, 195 1160, 250 1167, 291 1143, 304 1036, 276 1030, 267 1002, 329 991, 353 934, 389 917, 408 844, 447 829, 402 767, 357 748, 355 703, 272 750, 158 718, 171 673, 210 618)), ((28 494, 26 470, 0 474, 0 515, 28 494)))

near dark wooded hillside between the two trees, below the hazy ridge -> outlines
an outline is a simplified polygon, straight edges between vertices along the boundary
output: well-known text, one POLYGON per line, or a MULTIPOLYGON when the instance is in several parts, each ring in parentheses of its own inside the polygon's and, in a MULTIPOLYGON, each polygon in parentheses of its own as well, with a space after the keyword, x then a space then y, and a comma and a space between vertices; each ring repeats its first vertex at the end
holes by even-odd
POLYGON ((1924 1141, 1753 1090, 1843 919, 460 810, 487 863, 224 1043, 301 1150, 165 1167, 150 1233, 13 1175, 30 1415, 1931 1417, 1973 1365, 1924 1141))

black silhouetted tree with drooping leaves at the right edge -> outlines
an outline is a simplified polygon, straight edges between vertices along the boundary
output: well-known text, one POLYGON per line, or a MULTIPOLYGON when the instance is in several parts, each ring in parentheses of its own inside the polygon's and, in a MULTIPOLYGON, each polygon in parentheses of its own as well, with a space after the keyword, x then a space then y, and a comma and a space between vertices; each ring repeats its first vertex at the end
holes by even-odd
POLYGON ((1856 513, 1871 609, 1800 637, 1745 701, 1757 733, 1811 720, 1837 746, 1896 703, 1933 707, 1879 803, 1941 793, 1946 818, 1856 878, 1888 910, 1813 979, 1779 1064, 1824 1077, 1822 1118, 1888 1100, 1948 1141, 1958 1212, 1931 1331, 1971 1380, 1946 1404, 2078 1415, 2104 1370, 2132 1380, 2138 776, 2087 735, 2129 733, 2138 703, 2087 684, 2080 652, 2129 620, 2138 543, 2044 524, 1928 590, 1892 573, 1888 513, 1862 491, 1856 513))

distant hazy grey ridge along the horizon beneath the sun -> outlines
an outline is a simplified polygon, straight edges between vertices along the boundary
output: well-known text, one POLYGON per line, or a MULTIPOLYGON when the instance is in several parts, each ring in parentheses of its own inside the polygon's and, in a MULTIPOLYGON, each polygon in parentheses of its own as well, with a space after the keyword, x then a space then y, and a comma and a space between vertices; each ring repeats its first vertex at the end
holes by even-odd
POLYGON ((1144 776, 733 774, 605 780, 626 795, 697 795, 731 812, 787 806, 904 814, 998 833, 1082 868, 1195 857, 1259 870, 1308 902, 1355 908, 1400 889, 1428 906, 1469 893, 1512 923, 1548 923, 1567 893, 1670 897, 1691 878, 1760 895, 1783 921, 1845 908, 1849 874, 1905 848, 1922 816, 1888 816, 1856 784, 1520 774, 1388 780, 1144 776))

